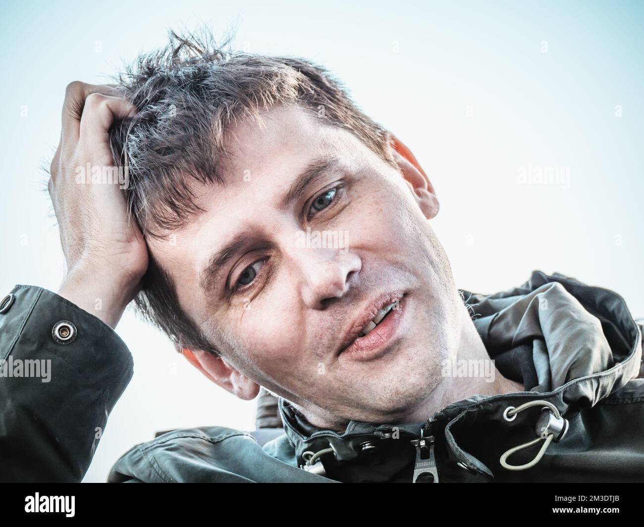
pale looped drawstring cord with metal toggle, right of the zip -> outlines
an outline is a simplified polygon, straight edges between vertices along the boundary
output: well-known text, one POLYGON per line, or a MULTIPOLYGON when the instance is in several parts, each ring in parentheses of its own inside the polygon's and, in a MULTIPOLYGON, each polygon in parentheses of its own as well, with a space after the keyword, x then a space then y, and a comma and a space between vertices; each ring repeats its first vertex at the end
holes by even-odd
POLYGON ((499 459, 499 462, 503 468, 506 468, 507 470, 526 470, 527 468, 535 466, 537 463, 539 463, 539 461, 541 461, 541 458, 544 457, 545 450, 547 450, 548 446, 550 446, 550 443, 552 443, 553 441, 555 443, 558 443, 564 438, 565 433, 568 431, 567 419, 564 419, 564 417, 562 417, 559 413, 557 407, 552 403, 549 403, 548 401, 530 401, 529 403, 524 403, 517 408, 507 407, 506 411, 503 412, 503 418, 508 422, 514 421, 516 419, 516 414, 518 414, 519 412, 523 412, 523 410, 526 410, 526 408, 537 406, 543 407, 544 410, 547 410, 547 412, 544 411, 541 414, 536 422, 535 432, 539 437, 533 439, 532 441, 528 441, 523 445, 515 446, 514 448, 507 450, 507 452, 503 454, 499 459), (507 458, 512 454, 518 452, 519 450, 523 450, 524 448, 530 448, 531 446, 536 445, 542 439, 544 439, 544 444, 539 449, 539 452, 536 454, 535 459, 533 459, 529 463, 526 463, 525 465, 510 465, 509 463, 507 463, 507 458))

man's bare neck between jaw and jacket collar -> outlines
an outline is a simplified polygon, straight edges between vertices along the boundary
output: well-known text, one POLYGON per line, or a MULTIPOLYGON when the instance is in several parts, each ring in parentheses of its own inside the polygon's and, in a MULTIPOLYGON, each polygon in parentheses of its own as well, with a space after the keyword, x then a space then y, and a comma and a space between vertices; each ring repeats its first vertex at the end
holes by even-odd
MULTIPOLYGON (((402 416, 398 416, 397 421, 420 423, 451 403, 471 396, 492 396, 524 390, 520 383, 504 378, 496 369, 465 305, 462 305, 460 310, 460 326, 460 343, 456 357, 453 362, 445 365, 441 372, 437 372, 442 374, 442 380, 426 398, 409 408, 402 416)), ((348 424, 328 414, 311 414, 303 408, 299 409, 312 425, 319 428, 342 432, 348 424)))

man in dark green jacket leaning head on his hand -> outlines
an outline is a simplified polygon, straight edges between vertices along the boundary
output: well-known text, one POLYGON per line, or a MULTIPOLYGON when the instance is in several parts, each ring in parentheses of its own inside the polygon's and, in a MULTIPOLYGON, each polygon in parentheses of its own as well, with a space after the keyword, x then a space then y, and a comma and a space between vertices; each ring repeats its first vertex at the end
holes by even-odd
POLYGON ((0 378, 3 479, 82 478, 131 378, 113 328, 138 294, 214 383, 276 394, 285 434, 169 432, 109 481, 644 480, 641 331, 618 295, 538 272, 459 291, 429 178, 325 70, 175 39, 115 86, 68 86, 66 278, 0 305, 3 358, 55 375, 0 378))

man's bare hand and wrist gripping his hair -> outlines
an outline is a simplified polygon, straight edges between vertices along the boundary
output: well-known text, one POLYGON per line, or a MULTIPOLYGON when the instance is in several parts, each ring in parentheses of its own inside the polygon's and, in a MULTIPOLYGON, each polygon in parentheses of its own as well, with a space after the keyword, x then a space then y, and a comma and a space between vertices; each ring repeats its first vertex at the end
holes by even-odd
POLYGON ((125 168, 114 166, 109 146, 113 121, 136 112, 116 86, 72 82, 49 180, 67 263, 59 294, 111 327, 137 293, 148 262, 142 233, 128 215, 125 168))

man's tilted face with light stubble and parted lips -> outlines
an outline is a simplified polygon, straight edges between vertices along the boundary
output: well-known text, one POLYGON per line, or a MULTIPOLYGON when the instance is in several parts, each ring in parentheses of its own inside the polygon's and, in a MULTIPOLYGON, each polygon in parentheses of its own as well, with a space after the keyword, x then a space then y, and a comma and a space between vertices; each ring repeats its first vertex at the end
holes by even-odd
POLYGON ((401 172, 354 135, 299 108, 263 120, 229 129, 225 185, 193 184, 203 212, 151 251, 247 378, 310 415, 402 416, 459 345, 444 251, 401 172))

